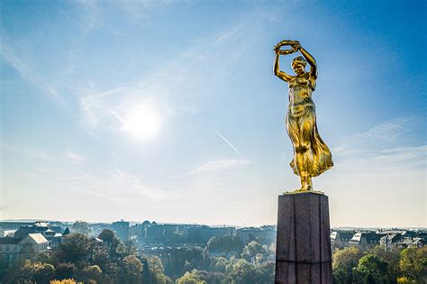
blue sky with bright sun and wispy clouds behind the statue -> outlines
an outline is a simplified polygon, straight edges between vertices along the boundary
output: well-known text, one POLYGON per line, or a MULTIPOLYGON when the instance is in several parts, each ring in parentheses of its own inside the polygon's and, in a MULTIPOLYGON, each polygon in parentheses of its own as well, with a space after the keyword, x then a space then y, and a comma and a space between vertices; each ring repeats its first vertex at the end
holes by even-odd
POLYGON ((331 224, 426 226, 426 11, 2 1, 0 219, 276 224, 299 186, 273 74, 289 39, 317 60, 331 224))

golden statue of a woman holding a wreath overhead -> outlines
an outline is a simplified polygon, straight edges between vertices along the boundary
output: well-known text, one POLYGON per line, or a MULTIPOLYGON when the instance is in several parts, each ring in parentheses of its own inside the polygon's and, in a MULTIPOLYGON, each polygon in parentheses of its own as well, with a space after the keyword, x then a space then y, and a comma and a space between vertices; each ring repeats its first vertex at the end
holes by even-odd
POLYGON ((312 94, 316 87, 316 60, 301 46, 299 41, 280 41, 274 48, 276 59, 274 74, 289 85, 289 105, 286 114, 286 130, 294 147, 294 159, 290 166, 301 179, 301 188, 297 191, 312 190, 312 177, 316 177, 333 166, 332 154, 323 142, 316 125, 316 108, 312 94), (290 46, 289 50, 281 50, 290 46), (281 71, 278 66, 280 55, 300 51, 303 56, 292 60, 295 76, 281 71), (307 63, 310 71, 305 71, 307 63))

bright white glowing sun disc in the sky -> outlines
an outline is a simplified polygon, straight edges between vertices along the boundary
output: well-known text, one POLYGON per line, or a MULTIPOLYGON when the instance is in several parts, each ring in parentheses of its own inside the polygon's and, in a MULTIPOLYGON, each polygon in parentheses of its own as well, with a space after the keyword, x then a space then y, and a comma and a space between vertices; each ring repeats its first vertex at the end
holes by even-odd
POLYGON ((159 110, 150 103, 132 106, 123 117, 123 130, 138 140, 155 139, 160 126, 159 110))

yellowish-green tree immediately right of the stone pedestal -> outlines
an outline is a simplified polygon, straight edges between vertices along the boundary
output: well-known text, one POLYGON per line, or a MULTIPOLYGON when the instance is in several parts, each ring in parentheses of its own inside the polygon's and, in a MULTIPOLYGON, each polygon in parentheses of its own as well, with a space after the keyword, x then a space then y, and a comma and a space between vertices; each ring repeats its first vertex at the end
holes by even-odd
POLYGON ((334 283, 354 283, 353 268, 357 267, 362 252, 358 247, 351 246, 337 250, 332 255, 332 271, 334 283))

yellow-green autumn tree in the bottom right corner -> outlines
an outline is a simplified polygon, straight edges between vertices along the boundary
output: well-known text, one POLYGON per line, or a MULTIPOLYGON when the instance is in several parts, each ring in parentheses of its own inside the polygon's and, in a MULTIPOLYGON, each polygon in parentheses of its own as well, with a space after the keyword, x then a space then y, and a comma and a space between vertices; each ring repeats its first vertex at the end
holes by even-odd
POLYGON ((400 253, 400 270, 408 279, 427 281, 427 246, 406 248, 400 253))

